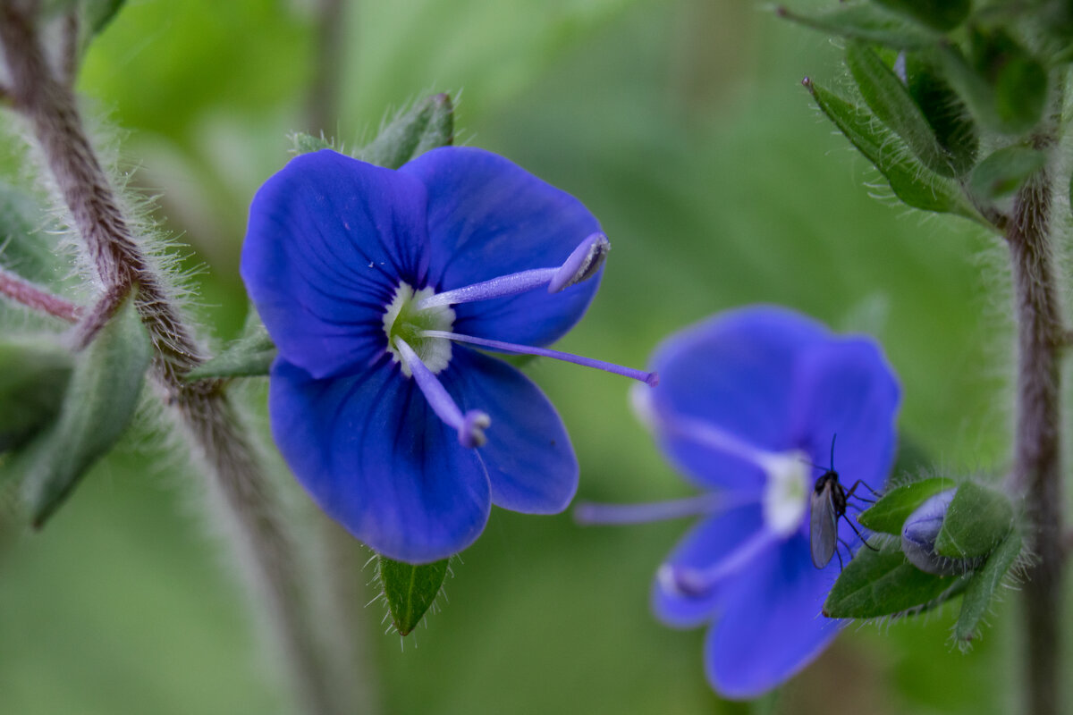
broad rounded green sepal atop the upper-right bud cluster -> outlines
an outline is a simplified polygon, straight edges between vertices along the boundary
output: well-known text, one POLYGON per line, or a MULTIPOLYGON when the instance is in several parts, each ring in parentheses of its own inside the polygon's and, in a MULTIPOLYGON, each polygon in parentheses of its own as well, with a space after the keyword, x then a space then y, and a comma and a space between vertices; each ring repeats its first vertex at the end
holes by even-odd
POLYGON ((951 45, 940 47, 941 66, 981 123, 1001 134, 1025 134, 1043 117, 1047 72, 1012 42, 994 44, 999 49, 976 53, 976 64, 985 68, 986 73, 978 72, 951 45))

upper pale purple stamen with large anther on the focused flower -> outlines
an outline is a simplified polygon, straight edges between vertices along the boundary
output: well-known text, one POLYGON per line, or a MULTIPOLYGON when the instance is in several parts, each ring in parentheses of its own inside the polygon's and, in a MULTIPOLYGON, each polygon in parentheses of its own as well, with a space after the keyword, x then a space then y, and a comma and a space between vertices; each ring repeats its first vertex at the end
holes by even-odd
POLYGON ((599 233, 591 234, 573 250, 561 266, 523 270, 453 291, 437 293, 417 303, 417 310, 502 298, 527 293, 544 285, 547 286, 548 293, 558 293, 596 275, 607 257, 608 251, 611 251, 611 242, 607 237, 599 233))

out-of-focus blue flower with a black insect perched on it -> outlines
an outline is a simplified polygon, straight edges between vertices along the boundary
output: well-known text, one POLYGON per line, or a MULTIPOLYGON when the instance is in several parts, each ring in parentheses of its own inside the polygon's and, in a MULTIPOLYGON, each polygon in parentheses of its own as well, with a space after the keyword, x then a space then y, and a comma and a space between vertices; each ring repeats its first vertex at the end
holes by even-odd
MULTIPOLYGON (((657 615, 710 624, 705 672, 722 696, 756 697, 815 658, 840 622, 821 609, 837 563, 812 565, 809 496, 835 434, 843 478, 880 489, 896 441, 898 383, 866 338, 832 334, 778 308, 732 311, 668 338, 635 392, 659 446, 696 497, 578 507, 587 522, 703 515, 660 567, 657 615)), ((855 536, 840 523, 847 543, 855 536)))

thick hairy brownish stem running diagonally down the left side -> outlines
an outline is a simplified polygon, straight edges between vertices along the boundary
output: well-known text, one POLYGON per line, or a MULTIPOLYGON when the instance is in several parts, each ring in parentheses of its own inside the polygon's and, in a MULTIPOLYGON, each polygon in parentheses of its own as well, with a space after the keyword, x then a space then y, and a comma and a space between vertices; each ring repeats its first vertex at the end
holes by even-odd
MULTIPOLYGON (((320 645, 307 627, 295 546, 279 513, 278 497, 258 466, 246 432, 221 384, 193 385, 182 376, 204 359, 161 280, 142 251, 130 222, 86 136, 74 94, 50 70, 32 0, 0 0, 0 45, 10 91, 40 145, 45 164, 82 237, 105 296, 135 293, 135 306, 155 348, 153 376, 192 451, 203 463, 220 517, 234 537, 251 592, 263 606, 275 640, 308 713, 349 712, 333 695, 320 645)), ((102 302, 106 310, 112 302, 102 302)))

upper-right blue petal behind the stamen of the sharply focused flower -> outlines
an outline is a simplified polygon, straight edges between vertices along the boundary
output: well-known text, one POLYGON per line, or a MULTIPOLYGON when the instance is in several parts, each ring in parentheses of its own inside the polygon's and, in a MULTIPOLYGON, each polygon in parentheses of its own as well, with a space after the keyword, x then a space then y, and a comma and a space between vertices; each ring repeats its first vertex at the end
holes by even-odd
MULTIPOLYGON (((497 154, 444 147, 400 169, 428 191, 429 281, 447 291, 532 268, 558 266, 600 230, 570 194, 497 154)), ((562 293, 536 289, 455 307, 455 331, 546 345, 585 313, 597 275, 562 293)))

